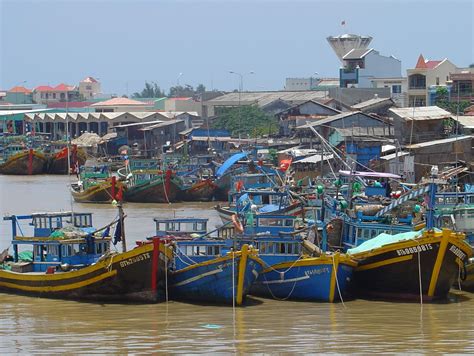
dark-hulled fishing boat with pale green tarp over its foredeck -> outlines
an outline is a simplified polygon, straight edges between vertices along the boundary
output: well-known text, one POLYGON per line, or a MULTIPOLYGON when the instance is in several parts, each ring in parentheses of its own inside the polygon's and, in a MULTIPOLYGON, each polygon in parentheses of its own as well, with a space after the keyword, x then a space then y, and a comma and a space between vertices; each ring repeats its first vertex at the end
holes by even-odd
POLYGON ((436 230, 437 168, 426 184, 393 199, 388 205, 356 211, 350 201, 340 210, 343 232, 337 248, 358 262, 354 271, 357 294, 388 299, 446 298, 472 255, 466 236, 450 229, 436 230), (413 212, 400 215, 411 200, 426 202, 424 220, 413 212), (394 213, 397 211, 397 213, 394 213))

